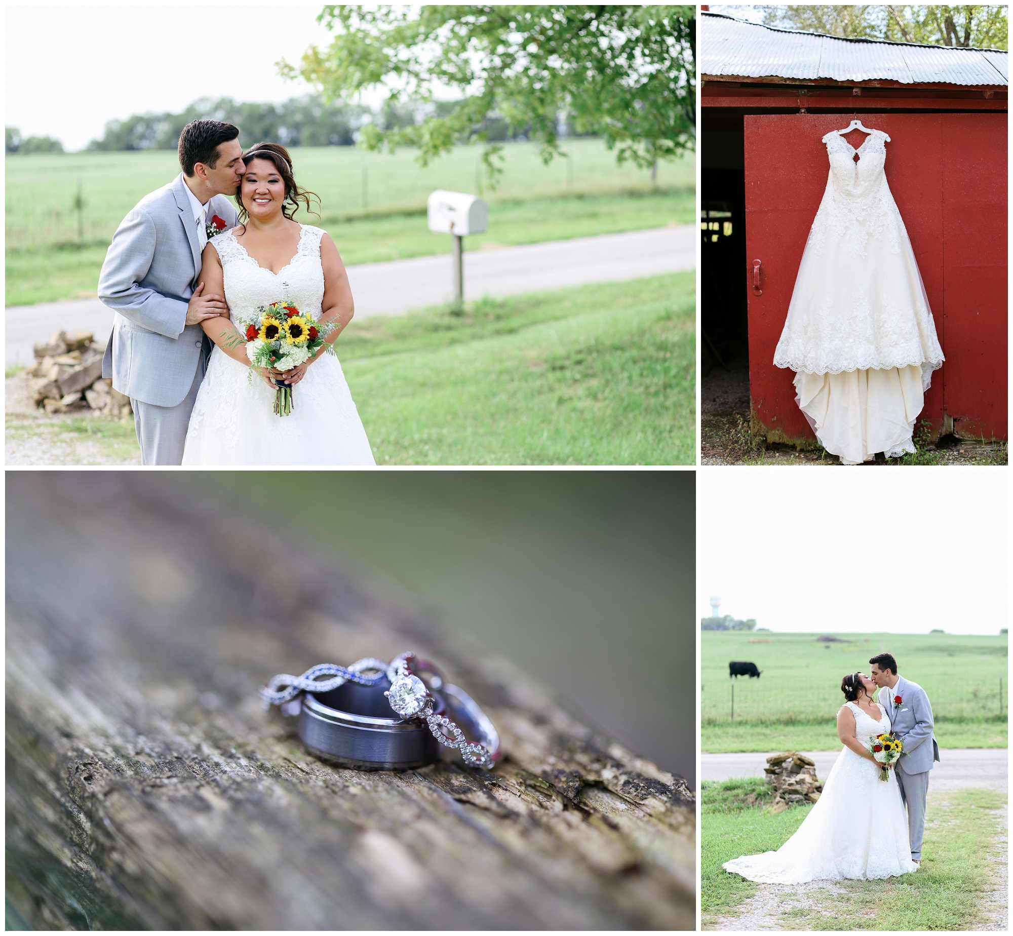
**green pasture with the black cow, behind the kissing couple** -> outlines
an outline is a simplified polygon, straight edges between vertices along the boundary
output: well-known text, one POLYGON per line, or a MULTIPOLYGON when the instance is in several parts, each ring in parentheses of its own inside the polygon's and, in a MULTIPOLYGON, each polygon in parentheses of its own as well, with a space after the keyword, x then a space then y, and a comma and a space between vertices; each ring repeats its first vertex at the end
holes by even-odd
POLYGON ((869 672, 869 657, 888 651, 901 674, 932 702, 942 747, 1007 746, 1007 635, 811 634, 704 631, 701 634, 701 750, 830 751, 840 747, 835 718, 841 679, 869 672), (755 662, 760 679, 734 681, 730 660, 755 662), (1003 695, 999 688, 1002 680, 1003 695), (1001 707, 1001 711, 1000 711, 1001 707))

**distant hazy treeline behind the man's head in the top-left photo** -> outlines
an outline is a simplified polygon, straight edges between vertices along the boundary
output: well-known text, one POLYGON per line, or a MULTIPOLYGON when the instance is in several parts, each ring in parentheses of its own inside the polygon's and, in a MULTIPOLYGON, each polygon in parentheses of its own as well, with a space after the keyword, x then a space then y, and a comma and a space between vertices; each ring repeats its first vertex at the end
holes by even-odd
MULTIPOLYGON (((457 101, 421 104, 404 101, 387 103, 374 111, 362 104, 340 101, 326 103, 318 94, 293 97, 284 103, 241 103, 231 97, 202 97, 181 113, 134 113, 123 121, 109 121, 98 140, 88 144, 89 150, 174 150, 182 129, 199 119, 226 121, 239 128, 239 142, 244 147, 260 140, 270 140, 284 146, 352 146, 359 130, 366 124, 376 124, 382 130, 410 127, 421 123, 428 114, 445 116, 458 105, 457 101)), ((484 130, 494 142, 527 140, 527 127, 514 127, 502 118, 492 116, 475 128, 484 130)), ((7 128, 8 153, 63 152, 59 140, 51 137, 29 137, 21 140, 18 131, 7 128)))

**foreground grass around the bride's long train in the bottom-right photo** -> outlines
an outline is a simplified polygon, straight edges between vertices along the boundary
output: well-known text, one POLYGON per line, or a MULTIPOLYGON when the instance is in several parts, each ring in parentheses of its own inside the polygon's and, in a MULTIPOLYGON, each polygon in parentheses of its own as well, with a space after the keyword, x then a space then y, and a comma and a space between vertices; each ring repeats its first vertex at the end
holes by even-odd
MULTIPOLYGON (((1001 845, 997 810, 1006 802, 997 790, 929 789, 922 866, 899 878, 836 882, 839 892, 817 889, 815 908, 779 895, 779 927, 785 930, 970 930, 988 922, 983 899, 996 885, 1001 845)), ((812 806, 774 813, 759 778, 701 785, 700 906, 704 929, 733 917, 743 901, 763 886, 721 864, 741 855, 776 851, 812 806)), ((810 898, 813 894, 808 894, 810 898)), ((725 922, 722 929, 734 929, 725 922)))

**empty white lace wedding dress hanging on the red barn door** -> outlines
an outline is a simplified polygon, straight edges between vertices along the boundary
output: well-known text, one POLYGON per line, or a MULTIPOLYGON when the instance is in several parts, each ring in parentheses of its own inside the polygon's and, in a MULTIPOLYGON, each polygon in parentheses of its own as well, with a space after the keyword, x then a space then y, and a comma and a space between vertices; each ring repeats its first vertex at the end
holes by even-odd
POLYGON ((827 190, 774 353, 796 372, 795 401, 820 444, 846 464, 915 451, 924 393, 944 360, 886 184, 885 136, 874 130, 857 150, 837 133, 823 138, 827 190))

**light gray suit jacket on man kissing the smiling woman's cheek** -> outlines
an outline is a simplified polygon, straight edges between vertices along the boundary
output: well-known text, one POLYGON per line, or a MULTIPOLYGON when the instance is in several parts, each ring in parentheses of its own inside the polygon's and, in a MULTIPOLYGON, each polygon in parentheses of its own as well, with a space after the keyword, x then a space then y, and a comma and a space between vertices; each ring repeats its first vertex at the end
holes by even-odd
MULTIPOLYGON (((208 203, 231 227, 236 210, 224 196, 208 203)), ((145 196, 112 235, 98 278, 98 298, 116 314, 102 376, 127 396, 177 406, 212 343, 186 325, 186 304, 201 272, 197 223, 182 173, 145 196)))

